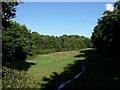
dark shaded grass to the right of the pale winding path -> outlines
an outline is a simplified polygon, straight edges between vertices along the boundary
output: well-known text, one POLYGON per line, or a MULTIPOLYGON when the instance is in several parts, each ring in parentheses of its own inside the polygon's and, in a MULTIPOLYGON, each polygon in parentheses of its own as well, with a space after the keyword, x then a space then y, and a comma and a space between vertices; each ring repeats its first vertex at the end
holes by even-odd
POLYGON ((82 88, 114 88, 120 89, 120 61, 118 55, 109 52, 88 51, 84 53, 88 62, 85 64, 85 73, 68 84, 63 90, 69 88, 80 90, 82 88))

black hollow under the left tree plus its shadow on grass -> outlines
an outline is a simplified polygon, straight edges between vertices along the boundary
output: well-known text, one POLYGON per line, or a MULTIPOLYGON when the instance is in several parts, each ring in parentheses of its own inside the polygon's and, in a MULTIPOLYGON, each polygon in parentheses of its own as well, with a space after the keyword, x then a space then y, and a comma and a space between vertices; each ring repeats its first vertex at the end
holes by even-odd
POLYGON ((27 54, 25 53, 22 46, 15 48, 15 52, 12 55, 9 55, 6 50, 3 49, 3 62, 2 65, 8 68, 16 70, 25 70, 27 71, 31 65, 35 65, 32 62, 26 62, 27 54), (8 54, 8 55, 7 55, 8 54))

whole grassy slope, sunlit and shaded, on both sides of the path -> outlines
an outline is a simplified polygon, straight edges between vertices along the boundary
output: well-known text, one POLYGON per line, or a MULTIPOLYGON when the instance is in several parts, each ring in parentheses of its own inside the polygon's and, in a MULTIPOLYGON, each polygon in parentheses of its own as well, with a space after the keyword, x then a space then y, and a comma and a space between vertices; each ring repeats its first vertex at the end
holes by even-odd
POLYGON ((28 62, 35 63, 29 68, 28 73, 40 83, 36 87, 42 87, 42 90, 54 90, 59 84, 71 79, 80 71, 83 60, 88 60, 85 63, 85 73, 65 86, 63 90, 120 88, 119 56, 106 51, 83 49, 80 54, 79 51, 63 52, 28 58, 28 62))

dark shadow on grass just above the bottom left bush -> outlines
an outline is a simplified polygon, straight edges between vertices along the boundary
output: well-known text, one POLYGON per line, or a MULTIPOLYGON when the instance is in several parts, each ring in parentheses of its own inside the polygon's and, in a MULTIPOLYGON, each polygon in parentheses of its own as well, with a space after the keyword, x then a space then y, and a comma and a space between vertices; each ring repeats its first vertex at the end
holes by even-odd
POLYGON ((11 61, 5 66, 8 68, 16 69, 16 70, 24 70, 27 71, 32 65, 35 65, 33 62, 26 62, 26 60, 16 60, 16 61, 11 61))

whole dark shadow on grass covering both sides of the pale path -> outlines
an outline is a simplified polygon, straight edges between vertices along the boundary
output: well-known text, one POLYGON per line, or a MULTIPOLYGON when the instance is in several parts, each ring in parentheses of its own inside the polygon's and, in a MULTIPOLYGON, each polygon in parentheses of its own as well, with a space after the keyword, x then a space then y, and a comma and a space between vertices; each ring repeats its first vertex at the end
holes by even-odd
POLYGON ((62 73, 53 72, 50 78, 44 77, 42 90, 57 90, 57 87, 73 78, 81 71, 81 64, 85 63, 85 72, 67 84, 62 90, 80 90, 82 88, 119 88, 120 59, 108 50, 82 50, 75 56, 78 58, 73 64, 69 64, 62 73), (85 58, 80 60, 80 58, 85 58))

